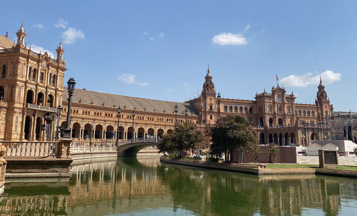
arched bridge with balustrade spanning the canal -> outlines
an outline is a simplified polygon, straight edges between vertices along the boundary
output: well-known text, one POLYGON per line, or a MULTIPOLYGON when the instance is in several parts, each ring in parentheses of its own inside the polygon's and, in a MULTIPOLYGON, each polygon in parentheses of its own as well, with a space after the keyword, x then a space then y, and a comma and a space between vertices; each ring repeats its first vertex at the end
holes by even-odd
POLYGON ((118 143, 118 156, 136 156, 141 149, 156 145, 161 142, 159 138, 135 138, 127 139, 118 143))

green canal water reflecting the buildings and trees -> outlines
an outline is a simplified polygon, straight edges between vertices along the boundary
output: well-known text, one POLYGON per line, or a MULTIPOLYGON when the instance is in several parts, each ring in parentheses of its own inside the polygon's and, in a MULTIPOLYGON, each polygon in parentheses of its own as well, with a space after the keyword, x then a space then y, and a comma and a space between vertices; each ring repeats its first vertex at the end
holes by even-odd
POLYGON ((69 179, 7 180, 0 215, 356 215, 357 179, 187 168, 157 157, 74 161, 69 179))

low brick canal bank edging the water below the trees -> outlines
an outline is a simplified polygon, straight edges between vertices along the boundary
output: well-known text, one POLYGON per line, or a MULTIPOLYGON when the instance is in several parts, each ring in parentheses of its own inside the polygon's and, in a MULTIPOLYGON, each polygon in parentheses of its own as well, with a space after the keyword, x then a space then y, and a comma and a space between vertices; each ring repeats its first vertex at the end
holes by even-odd
POLYGON ((337 169, 314 169, 314 168, 266 168, 264 165, 242 165, 242 164, 226 164, 196 160, 172 159, 164 156, 160 157, 160 162, 178 164, 184 166, 193 166, 205 169, 215 169, 223 171, 231 171, 237 173, 247 173, 253 175, 331 175, 348 178, 357 178, 357 171, 353 170, 337 170, 337 169))

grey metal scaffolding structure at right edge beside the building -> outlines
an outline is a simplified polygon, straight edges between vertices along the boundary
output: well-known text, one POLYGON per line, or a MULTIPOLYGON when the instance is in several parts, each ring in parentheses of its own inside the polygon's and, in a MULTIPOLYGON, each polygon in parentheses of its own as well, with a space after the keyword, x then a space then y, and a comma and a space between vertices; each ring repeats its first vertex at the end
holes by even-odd
POLYGON ((323 129, 325 140, 351 140, 356 142, 357 112, 335 112, 335 115, 327 116, 325 121, 319 122, 323 129), (336 114, 337 113, 337 114, 336 114))

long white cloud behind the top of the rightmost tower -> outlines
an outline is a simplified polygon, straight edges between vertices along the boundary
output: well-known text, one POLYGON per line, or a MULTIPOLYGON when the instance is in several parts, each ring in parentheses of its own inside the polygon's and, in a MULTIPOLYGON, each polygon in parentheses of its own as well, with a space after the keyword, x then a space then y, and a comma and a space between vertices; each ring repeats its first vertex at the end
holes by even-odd
MULTIPOLYGON (((334 73, 333 71, 327 70, 321 73, 322 83, 331 84, 335 81, 341 80, 341 76, 341 73, 334 73)), ((280 83, 285 86, 307 87, 308 85, 316 85, 320 83, 320 75, 313 76, 310 72, 302 76, 292 74, 288 77, 282 78, 280 83)))

